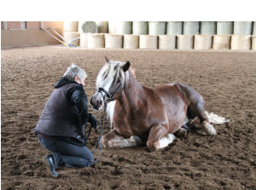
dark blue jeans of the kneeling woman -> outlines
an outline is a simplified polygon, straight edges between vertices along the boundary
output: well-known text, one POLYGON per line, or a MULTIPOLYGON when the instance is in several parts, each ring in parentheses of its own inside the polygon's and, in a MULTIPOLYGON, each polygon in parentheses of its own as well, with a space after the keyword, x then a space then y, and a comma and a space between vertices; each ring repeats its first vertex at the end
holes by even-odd
POLYGON ((87 147, 79 147, 66 141, 50 141, 40 137, 38 140, 43 147, 52 152, 55 168, 62 164, 79 168, 93 164, 93 155, 87 147))

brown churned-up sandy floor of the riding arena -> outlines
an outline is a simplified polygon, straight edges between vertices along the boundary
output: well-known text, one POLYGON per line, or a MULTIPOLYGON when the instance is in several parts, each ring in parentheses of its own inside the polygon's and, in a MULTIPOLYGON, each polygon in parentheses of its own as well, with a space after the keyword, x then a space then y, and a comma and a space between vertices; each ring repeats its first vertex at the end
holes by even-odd
MULTIPOLYGON (((234 50, 70 49, 60 45, 1 49, 1 189, 256 189, 256 52, 234 50), (49 152, 33 129, 67 66, 87 72, 95 93, 107 55, 129 60, 147 87, 182 82, 203 96, 208 112, 229 118, 216 136, 197 128, 156 153, 147 147, 103 148, 95 167, 46 176, 49 152)), ((90 112, 94 113, 90 108, 90 112)), ((103 111, 100 113, 103 118, 103 111)), ((104 134, 109 131, 107 124, 104 134)), ((90 135, 94 150, 96 134, 90 135)), ((97 158, 99 151, 95 154, 97 158)))

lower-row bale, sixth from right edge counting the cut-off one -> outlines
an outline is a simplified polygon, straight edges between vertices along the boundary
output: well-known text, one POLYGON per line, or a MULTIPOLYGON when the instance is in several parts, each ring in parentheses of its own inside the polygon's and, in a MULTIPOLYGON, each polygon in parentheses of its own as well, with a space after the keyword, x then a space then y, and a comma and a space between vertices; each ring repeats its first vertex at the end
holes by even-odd
POLYGON ((159 35, 158 37, 159 49, 175 49, 175 35, 159 35))

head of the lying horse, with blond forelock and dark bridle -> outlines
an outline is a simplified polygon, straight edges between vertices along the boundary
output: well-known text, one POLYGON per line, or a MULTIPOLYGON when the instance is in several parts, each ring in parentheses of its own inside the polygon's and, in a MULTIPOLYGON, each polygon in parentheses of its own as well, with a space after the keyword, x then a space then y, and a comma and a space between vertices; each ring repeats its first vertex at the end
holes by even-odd
POLYGON ((90 99, 93 109, 100 110, 105 103, 115 101, 121 95, 122 89, 127 87, 129 80, 130 62, 108 60, 96 78, 96 94, 90 99))

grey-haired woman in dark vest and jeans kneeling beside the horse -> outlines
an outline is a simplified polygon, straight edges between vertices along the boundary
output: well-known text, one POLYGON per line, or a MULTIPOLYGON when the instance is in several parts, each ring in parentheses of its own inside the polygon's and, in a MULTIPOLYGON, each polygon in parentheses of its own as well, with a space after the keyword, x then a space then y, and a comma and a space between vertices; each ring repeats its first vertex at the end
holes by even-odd
POLYGON ((69 66, 63 78, 55 83, 44 112, 39 118, 34 133, 41 145, 51 154, 43 158, 49 176, 58 176, 55 169, 87 167, 94 158, 86 146, 85 125, 96 127, 96 119, 88 113, 87 96, 84 92, 86 72, 79 66, 69 66))

